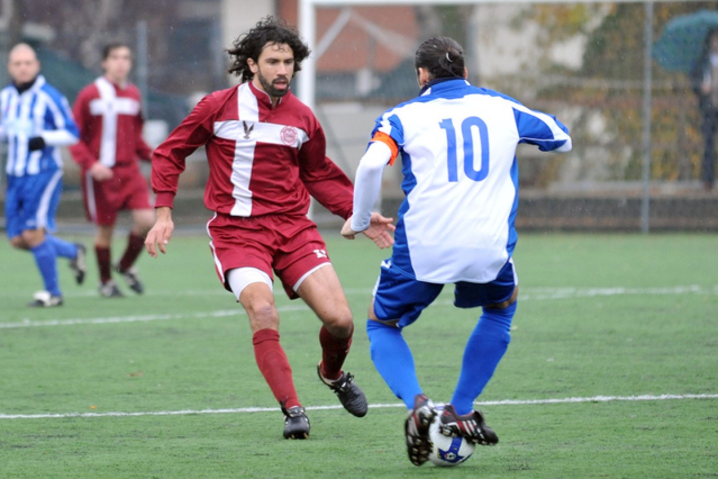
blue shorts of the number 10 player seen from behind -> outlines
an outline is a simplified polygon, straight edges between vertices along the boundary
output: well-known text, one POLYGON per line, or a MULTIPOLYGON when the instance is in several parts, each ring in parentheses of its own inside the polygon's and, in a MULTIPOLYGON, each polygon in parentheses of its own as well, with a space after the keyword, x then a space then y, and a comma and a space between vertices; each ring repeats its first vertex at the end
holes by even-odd
MULTIPOLYGON (((513 260, 509 259, 490 283, 461 281, 454 284, 454 306, 470 308, 507 301, 517 284, 513 260)), ((389 260, 382 261, 374 289, 374 314, 380 321, 398 320, 398 327, 411 325, 437 299, 443 288, 443 284, 411 278, 392 266, 389 260)))

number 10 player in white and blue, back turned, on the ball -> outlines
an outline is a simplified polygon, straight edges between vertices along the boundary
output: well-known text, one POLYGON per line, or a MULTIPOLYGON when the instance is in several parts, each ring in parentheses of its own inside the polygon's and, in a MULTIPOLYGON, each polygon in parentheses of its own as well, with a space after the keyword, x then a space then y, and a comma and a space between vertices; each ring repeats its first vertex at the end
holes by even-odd
POLYGON ((406 403, 409 459, 421 465, 431 451, 429 424, 438 414, 416 378, 401 331, 454 284, 454 305, 482 307, 465 348, 459 381, 440 418, 441 431, 475 444, 498 436, 473 403, 510 340, 518 280, 514 269, 518 164, 516 146, 541 151, 572 148, 566 126, 513 98, 467 82, 462 47, 439 37, 414 59, 421 94, 376 121, 356 173, 353 216, 342 236, 369 225, 384 167, 399 157, 406 199, 398 211, 391 259, 369 309, 371 358, 384 381, 406 403))

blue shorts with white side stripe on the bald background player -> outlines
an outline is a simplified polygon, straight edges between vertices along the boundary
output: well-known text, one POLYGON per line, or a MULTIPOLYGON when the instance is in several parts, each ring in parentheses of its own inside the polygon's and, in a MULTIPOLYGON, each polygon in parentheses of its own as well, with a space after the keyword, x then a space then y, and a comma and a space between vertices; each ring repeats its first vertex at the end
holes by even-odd
POLYGON ((55 231, 55 212, 62 192, 62 170, 7 177, 5 222, 8 238, 26 230, 55 231))

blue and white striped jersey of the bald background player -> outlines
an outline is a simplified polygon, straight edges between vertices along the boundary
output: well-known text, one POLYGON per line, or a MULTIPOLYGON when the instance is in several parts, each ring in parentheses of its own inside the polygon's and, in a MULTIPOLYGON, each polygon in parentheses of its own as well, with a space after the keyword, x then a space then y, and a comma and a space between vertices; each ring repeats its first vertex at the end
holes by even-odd
POLYGON ((8 176, 62 169, 57 147, 75 144, 79 136, 67 99, 42 75, 22 93, 14 85, 0 91, 0 140, 7 143, 8 176), (29 151, 34 136, 42 136, 45 148, 29 151))

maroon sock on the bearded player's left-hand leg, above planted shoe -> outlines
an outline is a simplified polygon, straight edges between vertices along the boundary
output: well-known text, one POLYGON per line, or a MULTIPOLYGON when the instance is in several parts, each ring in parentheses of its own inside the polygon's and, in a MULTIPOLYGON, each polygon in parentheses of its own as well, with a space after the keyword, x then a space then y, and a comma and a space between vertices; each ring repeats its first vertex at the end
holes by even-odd
POLYGON ((269 384, 277 402, 286 409, 301 406, 292 381, 292 367, 279 344, 279 332, 271 329, 258 330, 252 337, 254 357, 264 380, 269 384))

